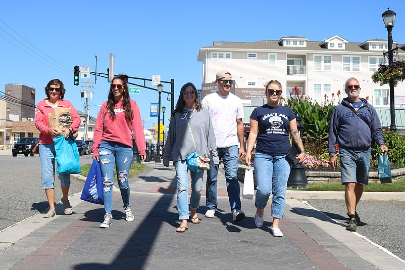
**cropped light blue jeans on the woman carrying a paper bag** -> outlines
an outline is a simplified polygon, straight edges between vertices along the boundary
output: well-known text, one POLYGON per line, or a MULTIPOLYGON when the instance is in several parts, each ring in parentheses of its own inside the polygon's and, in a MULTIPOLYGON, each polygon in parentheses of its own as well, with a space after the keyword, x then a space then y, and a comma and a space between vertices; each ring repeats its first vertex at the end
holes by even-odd
MULTIPOLYGON (((39 159, 41 160, 41 188, 55 188, 55 145, 39 144, 39 159)), ((70 186, 70 174, 60 173, 58 178, 62 187, 70 186)))

